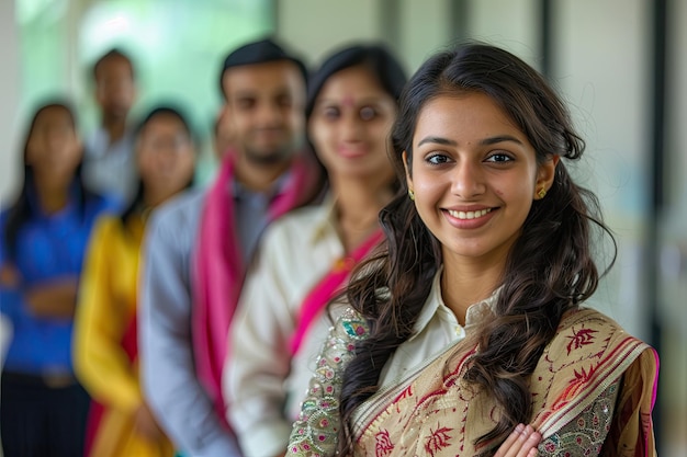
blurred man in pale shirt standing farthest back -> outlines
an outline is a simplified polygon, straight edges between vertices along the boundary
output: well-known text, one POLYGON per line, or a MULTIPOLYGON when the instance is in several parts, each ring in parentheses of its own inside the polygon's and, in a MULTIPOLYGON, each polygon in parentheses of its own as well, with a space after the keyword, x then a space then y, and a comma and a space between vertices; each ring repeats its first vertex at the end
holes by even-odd
POLYGON ((136 100, 134 64, 121 49, 111 49, 93 66, 100 125, 86 137, 83 178, 93 191, 127 205, 135 196, 138 178, 134 133, 128 122, 136 100))

